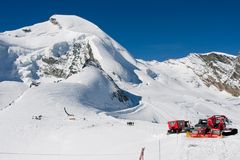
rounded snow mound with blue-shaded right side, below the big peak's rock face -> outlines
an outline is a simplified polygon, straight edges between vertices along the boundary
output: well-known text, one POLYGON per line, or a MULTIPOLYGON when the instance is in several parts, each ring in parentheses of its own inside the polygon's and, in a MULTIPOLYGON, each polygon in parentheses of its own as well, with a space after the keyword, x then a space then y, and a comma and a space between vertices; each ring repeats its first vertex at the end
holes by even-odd
MULTIPOLYGON (((5 96, 7 93, 4 92, 5 96)), ((17 114, 26 114, 26 117, 29 115, 57 117, 58 114, 62 117, 65 114, 64 107, 72 111, 82 109, 95 113, 111 112, 134 107, 139 104, 140 99, 118 88, 98 69, 88 67, 82 74, 76 74, 67 81, 42 83, 29 88, 9 107, 13 110, 16 108, 17 114)), ((74 112, 78 113, 81 112, 74 112)))

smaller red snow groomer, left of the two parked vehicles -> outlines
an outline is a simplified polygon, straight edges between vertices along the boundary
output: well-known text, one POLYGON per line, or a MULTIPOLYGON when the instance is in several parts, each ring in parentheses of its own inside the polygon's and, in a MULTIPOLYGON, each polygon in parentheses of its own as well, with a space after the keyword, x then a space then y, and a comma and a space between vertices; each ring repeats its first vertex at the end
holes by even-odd
POLYGON ((168 121, 168 129, 168 134, 184 133, 190 130, 190 124, 185 120, 168 121))

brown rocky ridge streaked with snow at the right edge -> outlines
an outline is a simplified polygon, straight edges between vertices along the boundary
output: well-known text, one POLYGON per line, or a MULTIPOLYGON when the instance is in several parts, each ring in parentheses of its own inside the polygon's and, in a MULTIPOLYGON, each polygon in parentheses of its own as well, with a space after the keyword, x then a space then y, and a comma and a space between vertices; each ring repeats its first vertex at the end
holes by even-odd
POLYGON ((203 55, 192 54, 189 67, 208 86, 215 86, 220 91, 226 91, 233 96, 240 96, 240 57, 221 53, 203 55), (195 64, 193 59, 199 59, 195 64))

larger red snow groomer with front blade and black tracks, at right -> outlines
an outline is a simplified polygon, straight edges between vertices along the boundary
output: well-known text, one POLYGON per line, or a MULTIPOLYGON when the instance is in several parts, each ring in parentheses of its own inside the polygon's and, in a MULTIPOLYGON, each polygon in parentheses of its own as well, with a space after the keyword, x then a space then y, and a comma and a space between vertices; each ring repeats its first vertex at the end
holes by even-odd
POLYGON ((208 119, 200 119, 194 129, 188 134, 195 138, 218 138, 222 136, 235 135, 236 128, 226 128, 230 120, 224 115, 214 115, 208 119))

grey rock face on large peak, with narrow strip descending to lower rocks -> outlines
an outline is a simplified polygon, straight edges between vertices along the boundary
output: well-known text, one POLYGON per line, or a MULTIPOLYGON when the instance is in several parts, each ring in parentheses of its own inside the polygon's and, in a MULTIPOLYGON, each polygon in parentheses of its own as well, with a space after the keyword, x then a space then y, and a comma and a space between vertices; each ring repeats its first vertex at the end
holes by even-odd
POLYGON ((42 57, 41 60, 44 63, 40 68, 43 72, 42 76, 54 76, 62 79, 67 79, 71 75, 81 72, 85 67, 96 67, 112 83, 114 88, 112 99, 116 98, 126 104, 128 104, 128 101, 134 101, 129 99, 128 93, 120 89, 114 80, 102 69, 98 60, 94 58, 92 48, 87 41, 77 40, 63 56, 42 57))

